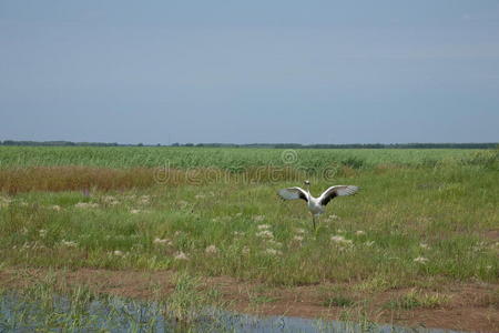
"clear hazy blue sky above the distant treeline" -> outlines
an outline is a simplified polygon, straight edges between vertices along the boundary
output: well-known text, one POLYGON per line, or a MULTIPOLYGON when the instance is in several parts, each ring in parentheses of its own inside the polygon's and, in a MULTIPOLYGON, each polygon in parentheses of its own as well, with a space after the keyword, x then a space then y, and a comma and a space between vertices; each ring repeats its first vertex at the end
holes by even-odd
POLYGON ((0 0, 0 140, 499 141, 499 0, 0 0))

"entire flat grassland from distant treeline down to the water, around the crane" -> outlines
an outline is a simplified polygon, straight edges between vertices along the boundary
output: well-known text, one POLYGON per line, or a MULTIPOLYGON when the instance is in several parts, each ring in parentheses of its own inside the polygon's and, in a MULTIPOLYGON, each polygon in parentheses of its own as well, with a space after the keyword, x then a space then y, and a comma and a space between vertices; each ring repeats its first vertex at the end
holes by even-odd
POLYGON ((498 331, 498 150, 1 147, 1 281, 182 272, 243 311, 498 331), (276 195, 305 179, 361 190, 313 230, 276 195))

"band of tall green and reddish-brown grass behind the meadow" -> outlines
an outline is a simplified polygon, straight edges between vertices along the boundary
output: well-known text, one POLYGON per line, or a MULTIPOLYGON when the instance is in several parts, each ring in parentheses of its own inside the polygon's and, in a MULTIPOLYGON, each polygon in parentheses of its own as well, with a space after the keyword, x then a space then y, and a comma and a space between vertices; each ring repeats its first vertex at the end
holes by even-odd
POLYGON ((261 150, 0 147, 0 191, 125 190, 154 184, 268 183, 363 170, 473 167, 499 171, 499 150, 261 150), (154 167, 154 168, 153 168, 154 167))

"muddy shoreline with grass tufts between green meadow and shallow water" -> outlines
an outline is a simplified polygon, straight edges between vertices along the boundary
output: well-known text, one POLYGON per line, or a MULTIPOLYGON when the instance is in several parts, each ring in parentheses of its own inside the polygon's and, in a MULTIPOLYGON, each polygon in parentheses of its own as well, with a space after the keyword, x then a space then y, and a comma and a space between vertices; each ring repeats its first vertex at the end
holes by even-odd
MULTIPOLYGON (((196 332, 195 323, 206 306, 263 317, 335 320, 365 327, 355 332, 371 332, 369 327, 386 324, 465 332, 496 332, 499 329, 499 289, 497 284, 485 283, 439 283, 429 287, 421 281, 418 287, 373 290, 352 283, 283 287, 173 271, 0 270, 0 304, 2 297, 11 295, 23 300, 23 304, 42 305, 44 312, 39 314, 37 324, 52 322, 52 327, 61 329, 94 322, 88 313, 94 300, 103 304, 108 300, 112 304, 116 301, 123 305, 151 304, 166 320, 176 319, 186 324, 181 326, 181 332, 196 332), (54 295, 71 301, 68 313, 55 311, 54 295), (58 325, 53 325, 54 320, 58 325)), ((22 317, 22 309, 18 312, 22 317)), ((217 320, 215 316, 212 321, 214 332, 221 331, 216 327, 217 320)), ((0 325, 2 322, 21 325, 0 316, 0 325)), ((145 330, 154 324, 147 320, 138 322, 138 317, 131 323, 140 323, 145 330)))

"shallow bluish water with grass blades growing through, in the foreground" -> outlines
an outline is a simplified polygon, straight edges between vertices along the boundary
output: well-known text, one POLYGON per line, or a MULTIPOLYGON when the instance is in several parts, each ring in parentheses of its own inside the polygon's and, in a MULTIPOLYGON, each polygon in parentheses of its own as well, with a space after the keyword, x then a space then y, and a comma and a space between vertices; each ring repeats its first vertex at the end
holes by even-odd
POLYGON ((236 314, 205 310, 190 325, 166 319, 157 303, 109 297, 74 304, 64 297, 30 302, 14 294, 0 297, 0 332, 417 332, 456 333, 448 330, 407 329, 388 325, 360 325, 338 321, 288 316, 236 314))

